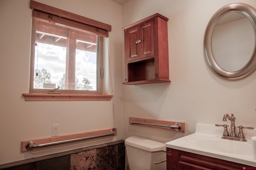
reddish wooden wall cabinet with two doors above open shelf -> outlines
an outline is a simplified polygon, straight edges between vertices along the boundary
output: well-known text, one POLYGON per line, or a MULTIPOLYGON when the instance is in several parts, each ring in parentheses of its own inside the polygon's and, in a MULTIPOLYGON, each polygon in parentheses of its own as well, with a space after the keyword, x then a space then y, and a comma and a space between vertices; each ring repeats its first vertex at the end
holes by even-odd
POLYGON ((170 82, 167 21, 157 13, 123 28, 123 84, 170 82))

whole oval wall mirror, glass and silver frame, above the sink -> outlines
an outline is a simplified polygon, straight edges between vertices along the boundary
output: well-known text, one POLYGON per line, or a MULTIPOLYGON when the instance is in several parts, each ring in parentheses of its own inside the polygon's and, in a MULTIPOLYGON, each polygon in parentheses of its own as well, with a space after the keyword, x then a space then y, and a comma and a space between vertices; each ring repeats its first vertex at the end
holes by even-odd
POLYGON ((240 80, 256 69, 256 10, 228 4, 210 19, 204 34, 206 63, 221 78, 240 80))

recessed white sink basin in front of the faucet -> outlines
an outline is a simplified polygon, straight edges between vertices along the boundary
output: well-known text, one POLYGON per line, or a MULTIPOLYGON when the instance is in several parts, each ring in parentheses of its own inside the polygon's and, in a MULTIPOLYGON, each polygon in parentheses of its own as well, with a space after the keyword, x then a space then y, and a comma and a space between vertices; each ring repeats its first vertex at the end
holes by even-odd
POLYGON ((225 152, 229 154, 252 155, 252 144, 250 141, 240 142, 221 139, 214 135, 201 137, 188 137, 186 141, 191 145, 215 152, 225 152))

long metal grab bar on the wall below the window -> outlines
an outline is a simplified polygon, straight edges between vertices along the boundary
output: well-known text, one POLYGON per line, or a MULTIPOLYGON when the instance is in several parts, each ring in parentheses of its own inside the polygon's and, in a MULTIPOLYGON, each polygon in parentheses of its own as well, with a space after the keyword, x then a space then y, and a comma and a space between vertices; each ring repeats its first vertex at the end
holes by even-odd
POLYGON ((104 134, 99 134, 99 135, 92 135, 92 136, 87 136, 87 137, 80 137, 80 138, 76 138, 76 139, 67 139, 67 140, 64 140, 64 141, 56 141, 56 142, 42 143, 42 144, 35 144, 34 141, 29 141, 26 144, 26 149, 27 150, 32 150, 32 149, 35 149, 35 148, 50 147, 50 146, 60 145, 60 144, 64 144, 64 143, 83 141, 83 140, 86 140, 86 139, 94 139, 94 138, 98 138, 98 137, 106 137, 106 136, 114 135, 115 133, 116 133, 116 130, 113 128, 110 133, 104 133, 104 134))

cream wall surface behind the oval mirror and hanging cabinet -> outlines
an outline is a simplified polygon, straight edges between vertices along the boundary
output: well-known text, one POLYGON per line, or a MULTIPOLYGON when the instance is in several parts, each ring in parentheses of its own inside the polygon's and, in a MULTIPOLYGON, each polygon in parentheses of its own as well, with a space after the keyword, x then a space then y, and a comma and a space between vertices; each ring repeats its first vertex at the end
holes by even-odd
POLYGON ((256 127, 256 72, 243 80, 227 81, 216 76, 204 60, 206 25, 218 9, 233 2, 256 8, 255 0, 130 0, 122 6, 123 27, 155 13, 169 18, 172 81, 122 85, 124 139, 136 135, 168 142, 194 133, 196 123, 224 123, 225 113, 234 113, 237 126, 256 127), (128 125, 128 117, 185 121, 186 132, 128 125))

